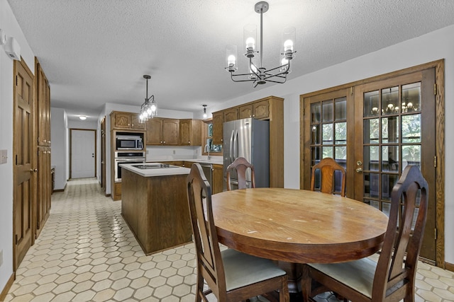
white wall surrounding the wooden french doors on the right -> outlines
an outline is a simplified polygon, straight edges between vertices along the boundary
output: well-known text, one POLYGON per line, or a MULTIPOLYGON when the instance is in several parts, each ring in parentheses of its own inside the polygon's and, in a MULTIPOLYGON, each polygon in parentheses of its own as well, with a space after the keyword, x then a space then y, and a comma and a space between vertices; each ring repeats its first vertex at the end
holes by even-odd
MULTIPOLYGON (((304 56, 304 54, 298 54, 304 56)), ((391 71, 445 59, 445 116, 454 112, 454 25, 384 48, 336 66, 316 71, 260 91, 228 100, 215 112, 275 95, 284 98, 284 186, 299 188, 299 95, 350 83, 391 71)), ((266 62, 265 62, 266 64, 266 62)), ((292 75, 290 75, 292 78, 292 75)), ((227 81, 227 80, 226 80, 227 81)), ((241 85, 240 83, 238 85, 241 85)), ((244 85, 248 85, 245 83, 244 85)), ((267 85, 267 84, 266 84, 267 85)), ((251 88, 252 91, 252 88, 251 88)), ((454 263, 454 119, 445 120, 445 261, 454 263)))

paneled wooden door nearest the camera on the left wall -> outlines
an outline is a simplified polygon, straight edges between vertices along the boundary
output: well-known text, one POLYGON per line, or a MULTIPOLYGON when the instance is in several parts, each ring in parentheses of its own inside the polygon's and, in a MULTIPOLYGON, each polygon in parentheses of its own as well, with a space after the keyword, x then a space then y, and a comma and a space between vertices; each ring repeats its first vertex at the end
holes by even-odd
POLYGON ((33 167, 33 74, 14 61, 13 81, 13 269, 33 244, 33 203, 36 168, 33 167))

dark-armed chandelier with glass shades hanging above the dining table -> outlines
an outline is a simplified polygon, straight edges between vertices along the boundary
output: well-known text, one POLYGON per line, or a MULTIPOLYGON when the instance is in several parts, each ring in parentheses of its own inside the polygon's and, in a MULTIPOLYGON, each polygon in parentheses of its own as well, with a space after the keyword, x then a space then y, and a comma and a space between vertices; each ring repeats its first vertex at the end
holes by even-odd
POLYGON ((252 81, 253 87, 258 84, 272 83, 285 83, 287 81, 287 74, 290 73, 290 60, 293 59, 295 51, 295 28, 284 28, 282 33, 282 48, 280 53, 280 66, 272 69, 263 67, 263 13, 266 13, 270 5, 265 1, 260 1, 255 4, 255 12, 260 13, 260 51, 255 50, 255 41, 257 40, 257 26, 246 25, 244 27, 244 40, 246 44, 245 57, 249 58, 249 73, 248 74, 234 74, 238 70, 236 62, 236 45, 228 45, 226 47, 227 54, 227 67, 226 71, 230 72, 231 79, 234 82, 252 81), (257 65, 253 62, 255 54, 259 54, 260 64, 257 65))

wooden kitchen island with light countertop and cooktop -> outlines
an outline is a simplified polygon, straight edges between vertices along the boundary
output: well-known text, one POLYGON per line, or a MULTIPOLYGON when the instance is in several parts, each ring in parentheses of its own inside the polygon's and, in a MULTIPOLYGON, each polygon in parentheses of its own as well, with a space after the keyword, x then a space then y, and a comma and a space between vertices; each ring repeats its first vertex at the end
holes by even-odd
POLYGON ((186 179, 189 168, 122 164, 121 215, 150 255, 192 241, 186 179))

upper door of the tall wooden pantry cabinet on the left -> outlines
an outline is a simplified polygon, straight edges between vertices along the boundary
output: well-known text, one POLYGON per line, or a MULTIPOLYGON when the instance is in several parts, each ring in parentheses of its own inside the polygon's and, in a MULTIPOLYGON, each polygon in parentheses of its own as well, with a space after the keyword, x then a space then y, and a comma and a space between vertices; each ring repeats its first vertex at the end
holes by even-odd
POLYGON ((50 146, 50 86, 41 64, 35 58, 35 93, 38 107, 38 146, 50 146))

